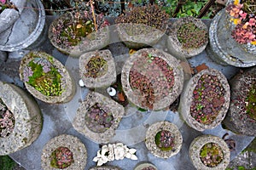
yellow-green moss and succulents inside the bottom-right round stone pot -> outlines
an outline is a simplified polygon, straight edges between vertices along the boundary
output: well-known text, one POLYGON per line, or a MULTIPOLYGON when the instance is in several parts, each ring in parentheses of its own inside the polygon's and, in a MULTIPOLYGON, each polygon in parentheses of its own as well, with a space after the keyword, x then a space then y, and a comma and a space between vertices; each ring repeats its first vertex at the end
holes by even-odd
POLYGON ((200 158, 207 167, 216 167, 223 160, 221 147, 215 143, 205 144, 200 151, 200 158))

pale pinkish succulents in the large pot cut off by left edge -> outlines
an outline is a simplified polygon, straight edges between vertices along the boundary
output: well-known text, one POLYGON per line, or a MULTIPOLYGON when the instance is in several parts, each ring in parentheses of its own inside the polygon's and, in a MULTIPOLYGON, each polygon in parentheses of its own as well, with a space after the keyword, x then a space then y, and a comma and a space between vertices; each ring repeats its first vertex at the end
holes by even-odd
POLYGON ((0 137, 8 137, 15 128, 15 116, 0 98, 0 137))

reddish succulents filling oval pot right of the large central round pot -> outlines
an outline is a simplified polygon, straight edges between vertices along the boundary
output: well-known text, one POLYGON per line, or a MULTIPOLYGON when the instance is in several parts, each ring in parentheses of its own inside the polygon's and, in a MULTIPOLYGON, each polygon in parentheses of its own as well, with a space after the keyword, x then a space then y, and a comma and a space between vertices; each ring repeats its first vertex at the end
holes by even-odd
POLYGON ((190 106, 191 116, 197 122, 211 124, 218 116, 224 101, 224 88, 218 77, 203 74, 193 92, 190 106))

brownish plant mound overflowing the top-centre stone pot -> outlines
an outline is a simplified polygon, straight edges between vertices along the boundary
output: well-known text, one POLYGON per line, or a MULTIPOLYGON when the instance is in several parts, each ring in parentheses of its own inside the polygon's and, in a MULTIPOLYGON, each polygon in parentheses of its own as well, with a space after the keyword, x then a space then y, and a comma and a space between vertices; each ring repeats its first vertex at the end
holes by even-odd
MULTIPOLYGON (((121 14, 115 22, 134 23, 151 26, 160 31, 166 31, 169 15, 166 14, 158 5, 134 7, 131 11, 121 14)), ((147 31, 147 30, 143 30, 147 31)))

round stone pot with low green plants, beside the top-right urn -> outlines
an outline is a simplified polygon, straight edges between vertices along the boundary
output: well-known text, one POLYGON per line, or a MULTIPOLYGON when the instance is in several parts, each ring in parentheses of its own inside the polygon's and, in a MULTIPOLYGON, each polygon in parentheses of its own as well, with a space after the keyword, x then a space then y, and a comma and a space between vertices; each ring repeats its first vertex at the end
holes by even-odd
POLYGON ((168 35, 167 48, 173 56, 190 58, 201 54, 207 47, 208 28, 194 17, 176 20, 168 35))

